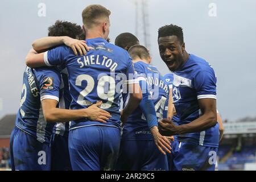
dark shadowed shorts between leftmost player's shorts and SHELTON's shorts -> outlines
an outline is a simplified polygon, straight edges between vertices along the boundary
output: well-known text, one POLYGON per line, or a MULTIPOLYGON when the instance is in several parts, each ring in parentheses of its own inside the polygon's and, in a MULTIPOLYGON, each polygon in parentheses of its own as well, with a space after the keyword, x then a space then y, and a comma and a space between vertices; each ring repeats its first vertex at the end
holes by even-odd
POLYGON ((51 152, 52 171, 72 171, 68 151, 68 137, 52 134, 51 152))

